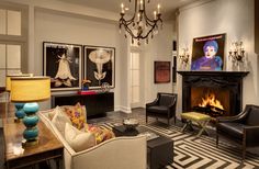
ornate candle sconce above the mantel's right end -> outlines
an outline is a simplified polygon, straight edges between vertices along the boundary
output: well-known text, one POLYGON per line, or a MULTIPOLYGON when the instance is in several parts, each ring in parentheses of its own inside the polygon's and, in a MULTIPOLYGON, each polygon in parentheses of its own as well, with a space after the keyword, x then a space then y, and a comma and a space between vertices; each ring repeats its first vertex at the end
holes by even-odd
POLYGON ((246 69, 246 55, 241 41, 233 42, 229 50, 229 59, 233 63, 233 70, 246 69))

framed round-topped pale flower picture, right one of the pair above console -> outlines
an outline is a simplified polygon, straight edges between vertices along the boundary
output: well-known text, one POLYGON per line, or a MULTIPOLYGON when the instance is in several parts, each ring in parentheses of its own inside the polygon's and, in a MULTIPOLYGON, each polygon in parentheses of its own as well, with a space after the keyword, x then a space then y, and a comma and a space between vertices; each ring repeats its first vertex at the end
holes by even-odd
POLYGON ((83 46, 83 79, 90 80, 89 89, 102 84, 115 88, 115 47, 83 46))

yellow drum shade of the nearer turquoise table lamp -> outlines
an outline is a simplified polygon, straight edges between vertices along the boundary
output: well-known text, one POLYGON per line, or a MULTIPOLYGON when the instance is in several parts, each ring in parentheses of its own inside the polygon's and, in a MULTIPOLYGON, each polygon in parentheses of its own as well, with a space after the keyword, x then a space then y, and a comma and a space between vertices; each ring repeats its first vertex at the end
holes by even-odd
POLYGON ((36 102, 50 98, 49 77, 11 78, 12 102, 36 102))

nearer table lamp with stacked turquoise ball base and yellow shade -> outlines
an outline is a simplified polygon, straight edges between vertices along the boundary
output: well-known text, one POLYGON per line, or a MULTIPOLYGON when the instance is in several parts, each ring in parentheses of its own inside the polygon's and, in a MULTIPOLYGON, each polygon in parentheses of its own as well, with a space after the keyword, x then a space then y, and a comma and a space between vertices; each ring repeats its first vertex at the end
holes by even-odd
POLYGON ((25 140, 23 147, 33 146, 38 143, 38 116, 36 112, 40 106, 36 102, 50 98, 49 77, 14 77, 11 78, 11 101, 25 103, 23 110, 25 116, 23 124, 26 126, 23 132, 25 140))

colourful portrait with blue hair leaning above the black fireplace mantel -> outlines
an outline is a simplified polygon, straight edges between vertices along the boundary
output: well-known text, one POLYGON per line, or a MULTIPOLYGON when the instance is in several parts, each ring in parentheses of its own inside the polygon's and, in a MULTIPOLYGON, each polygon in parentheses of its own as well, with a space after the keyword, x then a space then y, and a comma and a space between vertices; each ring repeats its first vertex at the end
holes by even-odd
POLYGON ((223 70, 226 34, 193 38, 191 70, 223 70))

